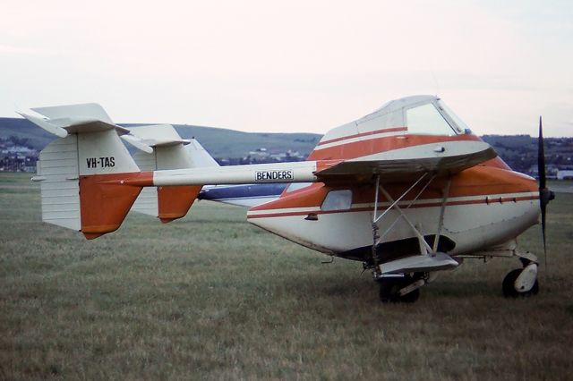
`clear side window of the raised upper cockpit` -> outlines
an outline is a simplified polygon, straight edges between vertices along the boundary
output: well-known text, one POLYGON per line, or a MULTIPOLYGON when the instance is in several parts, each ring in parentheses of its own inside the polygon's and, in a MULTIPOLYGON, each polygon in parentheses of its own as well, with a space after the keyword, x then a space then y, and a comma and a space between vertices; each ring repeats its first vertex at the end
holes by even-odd
POLYGON ((440 112, 431 103, 406 110, 408 133, 420 135, 456 135, 440 112))

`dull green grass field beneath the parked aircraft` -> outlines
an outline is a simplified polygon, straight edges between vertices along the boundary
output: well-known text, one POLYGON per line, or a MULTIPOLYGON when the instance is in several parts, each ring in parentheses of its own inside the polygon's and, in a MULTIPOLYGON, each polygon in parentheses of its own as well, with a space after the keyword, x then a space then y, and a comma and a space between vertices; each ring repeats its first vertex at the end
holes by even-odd
MULTIPOLYGON (((40 222, 27 179, 0 174, 0 379, 573 378, 573 194, 549 206, 536 297, 504 299, 517 259, 496 259, 381 305, 360 263, 321 264, 242 208, 85 241, 40 222)), ((540 235, 520 245, 541 253, 540 235)))

